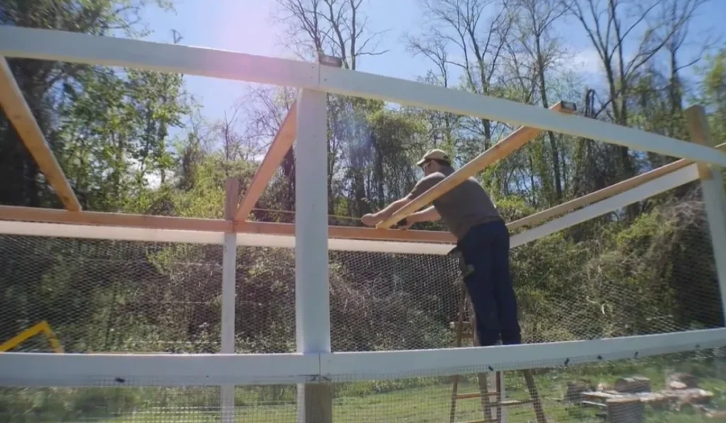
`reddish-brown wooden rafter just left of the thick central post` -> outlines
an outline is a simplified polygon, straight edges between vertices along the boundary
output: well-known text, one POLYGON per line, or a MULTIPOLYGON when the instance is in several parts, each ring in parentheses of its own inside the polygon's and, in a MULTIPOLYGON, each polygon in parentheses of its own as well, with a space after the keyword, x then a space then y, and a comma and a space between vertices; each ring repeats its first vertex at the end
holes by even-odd
POLYGON ((262 192, 266 188, 277 168, 280 167, 280 163, 285 158, 285 155, 293 147, 295 141, 295 129, 297 127, 298 120, 298 107, 297 102, 293 102, 293 106, 290 107, 290 111, 287 112, 285 119, 282 120, 282 126, 277 131, 272 144, 265 158, 262 160, 260 167, 257 169, 255 176, 250 182, 250 186, 245 192, 245 197, 242 197, 240 207, 237 208, 237 213, 234 216, 235 221, 246 221, 250 211, 257 204, 257 200, 260 199, 262 192))

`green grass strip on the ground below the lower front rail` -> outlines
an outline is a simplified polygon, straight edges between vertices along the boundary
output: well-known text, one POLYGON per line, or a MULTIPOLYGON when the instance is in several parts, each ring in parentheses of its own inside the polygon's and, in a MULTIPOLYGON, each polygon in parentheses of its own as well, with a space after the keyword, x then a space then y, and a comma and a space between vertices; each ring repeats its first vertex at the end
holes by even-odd
MULTIPOLYGON (((653 390, 664 387, 672 371, 689 371, 703 389, 714 393, 711 408, 726 410, 726 373, 706 361, 603 363, 544 371, 536 375, 547 421, 603 422, 597 408, 571 406, 561 401, 567 382, 582 379, 592 385, 612 383, 619 377, 640 374, 650 378, 653 390)), ((523 378, 506 373, 507 396, 526 399, 523 378)), ((460 393, 476 392, 476 378, 465 378, 460 393)), ((449 378, 428 377, 335 384, 335 422, 449 422, 452 385, 449 378)), ((295 422, 295 387, 237 387, 237 422, 295 422)), ((219 422, 216 387, 89 388, 83 390, 14 390, 0 393, 3 422, 172 423, 219 422), (1 402, 1 401, 5 402, 1 402), (15 412, 12 409, 15 409, 15 412), (5 414, 4 414, 5 413, 5 414), (9 418, 8 418, 9 417, 9 418)), ((457 422, 483 418, 477 399, 457 402, 457 422)), ((512 423, 535 422, 531 404, 509 408, 512 423)), ((646 422, 714 422, 693 411, 655 411, 646 406, 646 422)))

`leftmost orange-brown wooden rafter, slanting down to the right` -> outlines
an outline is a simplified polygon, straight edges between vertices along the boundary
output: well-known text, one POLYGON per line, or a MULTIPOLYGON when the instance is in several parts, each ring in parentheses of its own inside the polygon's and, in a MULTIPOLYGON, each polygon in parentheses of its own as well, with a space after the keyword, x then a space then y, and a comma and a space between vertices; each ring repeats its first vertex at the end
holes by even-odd
POLYGON ((17 81, 12 75, 7 60, 0 57, 0 106, 2 106, 8 120, 15 127, 23 144, 36 160, 38 168, 44 173, 50 186, 53 187, 60 201, 66 210, 81 210, 81 203, 78 202, 76 194, 68 184, 58 161, 55 160, 41 128, 33 117, 28 103, 25 102, 23 92, 17 86, 17 81))

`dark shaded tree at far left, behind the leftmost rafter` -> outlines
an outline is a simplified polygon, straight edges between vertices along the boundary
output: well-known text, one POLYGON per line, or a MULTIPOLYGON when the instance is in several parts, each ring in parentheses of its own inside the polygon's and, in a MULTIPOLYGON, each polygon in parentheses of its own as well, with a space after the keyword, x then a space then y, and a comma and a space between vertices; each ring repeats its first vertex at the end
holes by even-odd
MULTIPOLYGON (((122 31, 130 36, 142 36, 146 30, 140 15, 144 7, 151 5, 171 9, 171 1, 168 0, 2 0, 0 25, 94 35, 122 31)), ((9 66, 53 151, 60 153, 70 148, 64 145, 64 140, 54 136, 56 123, 61 118, 57 109, 63 87, 83 84, 88 67, 25 59, 11 59, 9 66)), ((82 86, 76 91, 82 91, 82 86)), ((0 188, 1 203, 36 207, 58 205, 54 193, 44 184, 36 163, 4 114, 0 115, 0 168, 0 177, 7 181, 0 188)))

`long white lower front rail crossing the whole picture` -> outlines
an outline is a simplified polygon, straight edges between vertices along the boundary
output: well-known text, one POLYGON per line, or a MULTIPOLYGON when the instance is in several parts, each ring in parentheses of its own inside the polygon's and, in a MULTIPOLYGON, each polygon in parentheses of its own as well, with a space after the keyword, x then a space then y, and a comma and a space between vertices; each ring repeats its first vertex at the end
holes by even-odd
POLYGON ((0 353, 0 386, 216 386, 353 382, 537 369, 726 345, 726 329, 438 350, 312 354, 0 353))

